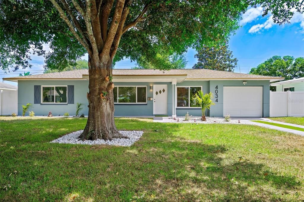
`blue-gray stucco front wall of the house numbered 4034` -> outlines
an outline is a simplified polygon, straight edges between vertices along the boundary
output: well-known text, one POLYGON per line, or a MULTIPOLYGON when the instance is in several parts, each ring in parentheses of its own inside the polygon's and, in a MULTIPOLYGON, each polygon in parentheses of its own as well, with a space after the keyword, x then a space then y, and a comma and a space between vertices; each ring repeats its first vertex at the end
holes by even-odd
MULTIPOLYGON (((172 105, 176 102, 176 94, 172 91, 171 82, 115 82, 116 86, 147 86, 147 97, 153 97, 153 90, 150 86, 153 84, 168 85, 168 103, 167 114, 172 115, 172 105)), ((36 115, 45 115, 51 111, 53 115, 63 115, 69 113, 75 114, 76 103, 84 103, 85 106, 81 113, 88 114, 88 100, 86 93, 88 92, 88 81, 86 80, 24 80, 18 82, 18 115, 22 114, 22 105, 26 103, 34 103, 34 85, 74 85, 74 104, 64 105, 45 105, 33 104, 33 110, 36 115)), ((211 107, 211 110, 206 111, 207 116, 223 116, 223 87, 224 86, 244 86, 241 80, 211 80, 211 81, 184 81, 177 83, 176 86, 202 86, 204 93, 215 93, 215 87, 218 86, 218 102, 211 107)), ((176 88, 174 85, 174 88, 176 88)), ((269 116, 269 81, 247 81, 246 86, 262 86, 263 87, 263 116, 269 116)), ((175 89, 174 89, 175 91, 175 89)), ((215 100, 215 99, 214 99, 215 100)), ((185 116, 186 113, 193 116, 201 116, 199 108, 176 108, 177 116, 185 116)), ((115 116, 152 116, 153 115, 153 100, 148 100, 147 104, 115 104, 115 116)))

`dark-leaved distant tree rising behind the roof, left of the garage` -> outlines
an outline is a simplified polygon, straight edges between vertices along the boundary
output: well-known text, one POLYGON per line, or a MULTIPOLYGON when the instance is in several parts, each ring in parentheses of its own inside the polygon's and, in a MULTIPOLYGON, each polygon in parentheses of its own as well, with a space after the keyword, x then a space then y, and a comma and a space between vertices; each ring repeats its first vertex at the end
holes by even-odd
POLYGON ((237 67, 237 59, 233 58, 227 42, 224 45, 203 45, 195 54, 195 58, 198 58, 198 62, 192 67, 193 69, 233 72, 237 67))

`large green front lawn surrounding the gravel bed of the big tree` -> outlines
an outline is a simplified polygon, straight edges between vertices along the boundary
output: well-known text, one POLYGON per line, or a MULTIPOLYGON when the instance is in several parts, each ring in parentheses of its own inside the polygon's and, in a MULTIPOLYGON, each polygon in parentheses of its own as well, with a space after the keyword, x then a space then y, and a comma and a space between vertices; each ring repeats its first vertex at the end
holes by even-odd
POLYGON ((144 131, 133 146, 49 143, 85 123, 0 117, 0 201, 304 199, 302 136, 254 125, 117 118, 119 130, 144 131))

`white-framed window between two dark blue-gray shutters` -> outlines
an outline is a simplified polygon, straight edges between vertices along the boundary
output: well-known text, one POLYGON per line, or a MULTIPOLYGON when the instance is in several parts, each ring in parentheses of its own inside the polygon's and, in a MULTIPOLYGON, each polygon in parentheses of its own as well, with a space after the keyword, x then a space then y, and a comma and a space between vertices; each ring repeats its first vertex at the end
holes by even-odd
POLYGON ((41 103, 67 103, 67 86, 42 86, 41 103))

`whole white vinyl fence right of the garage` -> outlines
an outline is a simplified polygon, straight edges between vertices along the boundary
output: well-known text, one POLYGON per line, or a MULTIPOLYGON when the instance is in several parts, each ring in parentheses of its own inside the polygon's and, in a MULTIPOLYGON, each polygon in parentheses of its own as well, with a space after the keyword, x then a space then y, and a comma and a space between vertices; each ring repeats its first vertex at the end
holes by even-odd
POLYGON ((270 117, 279 116, 304 116, 304 91, 270 91, 270 117))

